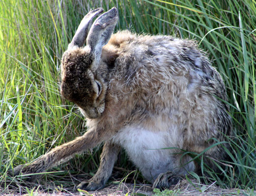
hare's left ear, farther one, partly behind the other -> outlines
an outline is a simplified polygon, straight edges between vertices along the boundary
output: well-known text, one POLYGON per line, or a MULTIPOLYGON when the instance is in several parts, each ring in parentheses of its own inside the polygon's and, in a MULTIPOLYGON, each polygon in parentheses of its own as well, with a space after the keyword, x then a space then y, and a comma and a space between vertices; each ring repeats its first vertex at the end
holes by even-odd
POLYGON ((90 26, 92 24, 92 19, 102 12, 103 12, 102 8, 97 8, 97 9, 90 10, 85 15, 80 25, 78 26, 77 31, 71 43, 68 45, 69 49, 73 48, 74 46, 82 47, 85 44, 85 39, 87 37, 90 26))

